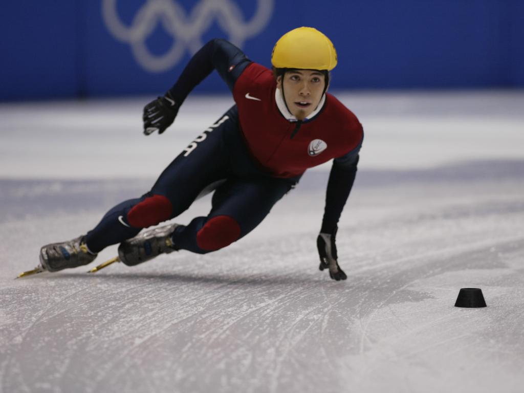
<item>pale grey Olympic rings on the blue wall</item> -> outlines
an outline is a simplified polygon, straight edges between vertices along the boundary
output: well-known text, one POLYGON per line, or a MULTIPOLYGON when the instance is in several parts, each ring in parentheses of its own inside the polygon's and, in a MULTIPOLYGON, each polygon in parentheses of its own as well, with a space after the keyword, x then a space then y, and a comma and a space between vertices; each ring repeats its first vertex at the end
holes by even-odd
POLYGON ((102 16, 113 36, 132 47, 136 61, 151 72, 172 68, 188 49, 196 53, 205 42, 201 36, 216 20, 228 34, 228 39, 242 48, 246 39, 259 34, 268 24, 274 0, 257 0, 257 10, 249 21, 244 22, 241 9, 230 0, 202 0, 186 14, 176 0, 146 0, 133 18, 132 24, 122 23, 116 10, 117 0, 103 0, 102 16), (152 54, 146 39, 161 23, 173 37, 171 48, 159 56, 152 54))

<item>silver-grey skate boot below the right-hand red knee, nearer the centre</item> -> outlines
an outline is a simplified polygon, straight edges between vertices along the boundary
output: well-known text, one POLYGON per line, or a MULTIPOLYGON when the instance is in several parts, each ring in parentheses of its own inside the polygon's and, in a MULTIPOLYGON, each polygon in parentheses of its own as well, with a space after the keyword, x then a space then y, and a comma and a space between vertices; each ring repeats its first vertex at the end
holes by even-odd
POLYGON ((135 266, 160 254, 178 251, 171 241, 171 234, 179 224, 170 224, 140 232, 118 246, 118 256, 127 266, 135 266))

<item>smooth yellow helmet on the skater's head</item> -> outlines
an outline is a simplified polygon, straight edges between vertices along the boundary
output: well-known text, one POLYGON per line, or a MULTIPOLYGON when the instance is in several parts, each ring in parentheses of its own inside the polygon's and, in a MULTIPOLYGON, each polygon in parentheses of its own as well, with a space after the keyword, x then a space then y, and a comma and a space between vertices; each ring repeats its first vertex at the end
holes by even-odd
POLYGON ((275 68, 331 71, 336 62, 333 42, 312 27, 288 31, 280 37, 271 53, 271 64, 275 68))

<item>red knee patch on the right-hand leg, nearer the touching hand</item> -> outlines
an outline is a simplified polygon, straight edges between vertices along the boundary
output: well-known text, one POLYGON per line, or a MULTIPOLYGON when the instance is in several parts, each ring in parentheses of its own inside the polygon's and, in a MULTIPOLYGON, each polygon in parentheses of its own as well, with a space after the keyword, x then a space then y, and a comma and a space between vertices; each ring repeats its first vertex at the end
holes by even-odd
POLYGON ((230 245, 240 237, 240 225, 230 216, 219 215, 205 223, 196 233, 196 244, 206 251, 230 245))

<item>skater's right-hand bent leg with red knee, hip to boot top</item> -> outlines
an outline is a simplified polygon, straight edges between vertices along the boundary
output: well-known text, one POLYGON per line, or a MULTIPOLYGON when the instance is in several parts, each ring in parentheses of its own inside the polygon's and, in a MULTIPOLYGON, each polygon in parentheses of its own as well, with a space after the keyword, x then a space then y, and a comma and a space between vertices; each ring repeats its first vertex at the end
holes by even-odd
POLYGON ((213 195, 210 214, 179 226, 172 236, 173 243, 177 249, 198 254, 224 248, 260 224, 290 189, 291 183, 281 179, 228 181, 213 195))

